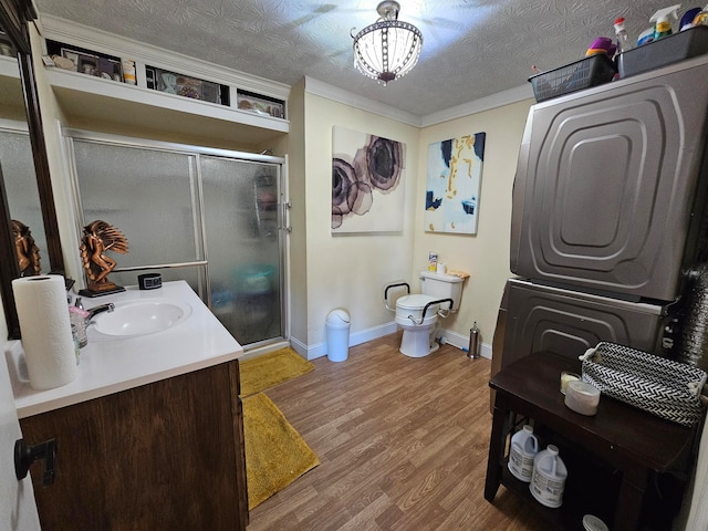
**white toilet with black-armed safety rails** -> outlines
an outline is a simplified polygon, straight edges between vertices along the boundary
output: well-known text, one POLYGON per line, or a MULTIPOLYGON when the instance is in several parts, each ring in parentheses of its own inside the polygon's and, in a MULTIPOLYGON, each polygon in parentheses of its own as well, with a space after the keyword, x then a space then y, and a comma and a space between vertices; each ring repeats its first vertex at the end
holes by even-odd
MULTIPOLYGON (((447 317, 456 312, 462 294, 465 279, 452 274, 423 271, 420 273, 421 294, 408 294, 396 301, 396 324, 403 329, 400 353, 410 357, 423 357, 439 348, 435 333, 439 327, 438 316, 447 317)), ((388 306, 388 289, 406 283, 392 284, 386 288, 384 299, 388 306)))

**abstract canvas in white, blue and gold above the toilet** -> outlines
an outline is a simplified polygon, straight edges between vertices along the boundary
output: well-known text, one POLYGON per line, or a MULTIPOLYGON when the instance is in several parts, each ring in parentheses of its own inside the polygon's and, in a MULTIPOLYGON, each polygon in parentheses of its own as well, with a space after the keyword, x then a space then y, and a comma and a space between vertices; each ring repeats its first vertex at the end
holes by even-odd
POLYGON ((476 235, 486 133, 428 146, 425 230, 476 235))

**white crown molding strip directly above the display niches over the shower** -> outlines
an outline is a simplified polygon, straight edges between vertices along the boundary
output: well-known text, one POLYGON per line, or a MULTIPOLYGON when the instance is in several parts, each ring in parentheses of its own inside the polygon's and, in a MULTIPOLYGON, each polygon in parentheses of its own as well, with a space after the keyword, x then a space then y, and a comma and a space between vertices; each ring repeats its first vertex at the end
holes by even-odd
POLYGON ((152 44, 132 41, 87 25, 40 13, 41 34, 44 39, 74 44, 100 53, 129 58, 160 69, 189 73, 197 77, 233 85, 258 94, 288 100, 290 86, 257 75, 226 69, 207 61, 189 58, 152 44), (185 72, 186 71, 186 72, 185 72))

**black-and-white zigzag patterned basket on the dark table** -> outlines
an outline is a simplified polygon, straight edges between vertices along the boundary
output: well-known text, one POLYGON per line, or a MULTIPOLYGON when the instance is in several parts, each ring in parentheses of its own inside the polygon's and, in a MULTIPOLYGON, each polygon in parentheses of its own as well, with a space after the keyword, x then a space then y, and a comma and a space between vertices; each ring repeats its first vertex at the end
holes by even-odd
POLYGON ((704 416, 707 375, 698 367, 614 343, 598 343, 580 358, 583 382, 607 396, 684 426, 704 416))

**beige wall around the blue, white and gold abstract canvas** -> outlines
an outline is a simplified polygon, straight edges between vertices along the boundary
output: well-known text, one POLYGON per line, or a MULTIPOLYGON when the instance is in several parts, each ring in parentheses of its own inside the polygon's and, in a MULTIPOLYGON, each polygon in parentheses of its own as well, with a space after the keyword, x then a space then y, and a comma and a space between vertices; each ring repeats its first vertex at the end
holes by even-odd
MULTIPOLYGON (((462 290, 459 312, 442 322, 444 329, 469 337, 472 322, 481 330, 485 355, 491 345, 497 311, 509 271, 511 227, 511 189, 517 169, 519 146, 531 100, 504 105, 464 118, 426 127, 420 132, 414 270, 427 269, 428 252, 438 252, 439 261, 449 268, 470 273, 462 290), (479 197, 479 223, 476 236, 424 232, 426 165, 428 145, 462 135, 487 133, 482 184, 479 197)), ((460 337, 451 337, 460 341, 460 337)), ((462 344, 458 346, 467 346, 462 344)))

